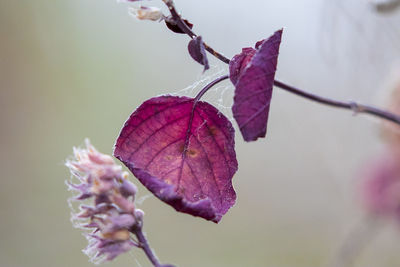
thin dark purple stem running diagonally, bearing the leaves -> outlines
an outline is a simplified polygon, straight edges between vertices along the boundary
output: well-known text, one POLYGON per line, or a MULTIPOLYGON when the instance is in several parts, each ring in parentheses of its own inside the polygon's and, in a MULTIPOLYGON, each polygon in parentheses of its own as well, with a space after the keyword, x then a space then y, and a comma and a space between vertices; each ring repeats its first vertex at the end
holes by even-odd
MULTIPOLYGON (((195 38, 197 35, 182 20, 181 16, 176 11, 176 8, 175 8, 175 5, 174 5, 174 1, 173 0, 163 0, 163 2, 167 5, 168 9, 171 12, 172 18, 174 19, 176 24, 179 26, 179 28, 181 28, 181 30, 184 31, 190 38, 192 38, 192 39, 195 38)), ((211 48, 206 43, 204 43, 204 48, 208 52, 210 52, 213 56, 215 56, 216 58, 221 60, 222 62, 224 62, 226 64, 229 64, 230 60, 227 57, 225 57, 224 55, 218 53, 217 51, 215 51, 213 48, 211 48)), ((211 85, 211 87, 213 85, 211 85)), ((324 105, 328 105, 328 106, 332 106, 332 107, 337 107, 337 108, 350 109, 350 110, 353 110, 355 113, 370 114, 370 115, 379 117, 381 119, 386 119, 386 120, 392 121, 392 122, 400 125, 400 116, 399 115, 393 114, 393 113, 385 111, 385 110, 378 109, 378 108, 373 107, 373 106, 363 105, 363 104, 359 104, 359 103, 356 103, 356 102, 353 102, 353 101, 343 102, 343 101, 338 101, 338 100, 334 100, 334 99, 330 99, 330 98, 326 98, 326 97, 321 97, 321 96, 318 96, 318 95, 315 95, 315 94, 311 94, 311 93, 305 92, 303 90, 300 90, 298 88, 295 88, 293 86, 290 86, 290 85, 285 84, 285 83, 283 83, 281 81, 278 81, 278 80, 274 81, 274 85, 276 87, 279 87, 279 88, 281 88, 283 90, 286 90, 286 91, 288 91, 290 93, 293 93, 295 95, 304 97, 304 98, 306 98, 308 100, 311 100, 311 101, 315 101, 315 102, 320 103, 320 104, 324 104, 324 105)), ((205 89, 206 88, 204 88, 203 90, 205 90, 205 89)), ((208 89, 210 89, 210 88, 208 88, 208 89)), ((207 91, 208 89, 206 89, 205 91, 207 91)), ((199 99, 205 93, 205 92, 203 92, 203 90, 201 90, 200 93, 198 94, 199 99)))

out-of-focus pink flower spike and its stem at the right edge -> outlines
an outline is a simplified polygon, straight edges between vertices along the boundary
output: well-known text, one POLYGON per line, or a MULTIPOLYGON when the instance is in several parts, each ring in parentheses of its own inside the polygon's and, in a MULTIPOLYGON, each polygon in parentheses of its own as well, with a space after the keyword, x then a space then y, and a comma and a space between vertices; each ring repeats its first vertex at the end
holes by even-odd
MULTIPOLYGON (((399 112, 400 81, 394 84, 386 106, 392 112, 399 112)), ((330 267, 353 266, 381 229, 382 219, 400 223, 400 131, 393 123, 384 122, 381 132, 385 151, 363 166, 358 185, 367 215, 345 238, 330 267)))

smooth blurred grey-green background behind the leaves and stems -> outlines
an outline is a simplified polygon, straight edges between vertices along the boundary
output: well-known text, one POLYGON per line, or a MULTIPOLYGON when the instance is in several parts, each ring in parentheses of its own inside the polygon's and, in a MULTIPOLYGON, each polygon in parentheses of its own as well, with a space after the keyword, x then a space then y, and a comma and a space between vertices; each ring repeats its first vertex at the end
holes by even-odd
MULTIPOLYGON (((382 106, 400 76, 400 10, 377 13, 364 0, 176 4, 229 57, 283 27, 277 78, 320 95, 382 106)), ((196 81, 227 70, 210 57, 202 75, 186 36, 137 21, 128 7, 0 0, 0 266, 93 266, 69 219, 63 164, 72 146, 89 137, 111 153, 141 102, 193 95, 196 81)), ((232 92, 225 82, 207 96, 230 118, 222 106, 232 92)), ((237 134, 238 200, 219 225, 176 213, 140 187, 153 248, 178 266, 326 266, 364 216, 358 173, 382 150, 378 126, 276 89, 268 137, 245 144, 237 134)), ((399 251, 399 225, 387 221, 356 265, 396 267, 399 251)), ((150 265, 134 250, 107 266, 150 265)))

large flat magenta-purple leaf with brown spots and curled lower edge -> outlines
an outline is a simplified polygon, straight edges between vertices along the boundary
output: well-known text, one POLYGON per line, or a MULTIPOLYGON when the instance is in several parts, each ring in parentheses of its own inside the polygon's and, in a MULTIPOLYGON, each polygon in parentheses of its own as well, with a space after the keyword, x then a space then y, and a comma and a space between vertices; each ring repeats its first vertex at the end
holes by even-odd
POLYGON ((125 123, 114 155, 177 211, 218 222, 235 203, 234 129, 206 102, 147 100, 125 123))

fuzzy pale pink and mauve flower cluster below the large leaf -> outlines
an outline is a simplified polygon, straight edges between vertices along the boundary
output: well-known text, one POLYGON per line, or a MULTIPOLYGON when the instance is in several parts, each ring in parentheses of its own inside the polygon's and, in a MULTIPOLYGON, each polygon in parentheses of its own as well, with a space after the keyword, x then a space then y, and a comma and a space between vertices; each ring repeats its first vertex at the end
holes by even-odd
POLYGON ((89 245, 84 250, 91 260, 109 261, 138 246, 131 232, 141 225, 143 211, 135 208, 137 188, 127 180, 128 173, 88 140, 85 149, 74 148, 74 158, 66 166, 72 174, 67 185, 77 192, 70 200, 81 202, 79 211, 72 212, 72 221, 92 230, 86 233, 89 245))

